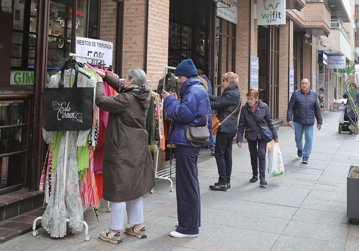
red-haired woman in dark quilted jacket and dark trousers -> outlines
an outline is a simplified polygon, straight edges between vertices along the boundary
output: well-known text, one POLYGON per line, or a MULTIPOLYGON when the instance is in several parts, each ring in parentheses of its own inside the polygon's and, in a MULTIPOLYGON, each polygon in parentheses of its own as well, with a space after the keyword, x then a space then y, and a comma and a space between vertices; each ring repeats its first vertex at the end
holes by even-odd
POLYGON ((250 182, 258 181, 258 164, 260 185, 267 185, 266 177, 266 151, 267 143, 262 139, 261 128, 257 126, 253 115, 258 120, 261 127, 268 127, 273 134, 275 142, 278 142, 278 134, 272 123, 269 107, 266 103, 258 99, 259 91, 251 89, 248 91, 247 103, 242 106, 241 116, 239 117, 237 144, 242 147, 243 133, 248 141, 248 148, 251 155, 253 177, 250 182), (259 162, 259 163, 258 163, 259 162))

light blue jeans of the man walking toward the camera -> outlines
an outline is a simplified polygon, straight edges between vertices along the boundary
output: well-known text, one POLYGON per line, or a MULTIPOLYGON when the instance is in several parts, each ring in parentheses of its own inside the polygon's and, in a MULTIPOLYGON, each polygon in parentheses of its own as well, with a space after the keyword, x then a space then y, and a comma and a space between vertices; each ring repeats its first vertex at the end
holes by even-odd
POLYGON ((297 122, 294 123, 294 134, 295 134, 295 143, 297 143, 297 148, 303 150, 303 157, 308 157, 312 153, 312 143, 313 143, 313 125, 303 125, 297 122), (303 132, 306 142, 303 148, 303 132))

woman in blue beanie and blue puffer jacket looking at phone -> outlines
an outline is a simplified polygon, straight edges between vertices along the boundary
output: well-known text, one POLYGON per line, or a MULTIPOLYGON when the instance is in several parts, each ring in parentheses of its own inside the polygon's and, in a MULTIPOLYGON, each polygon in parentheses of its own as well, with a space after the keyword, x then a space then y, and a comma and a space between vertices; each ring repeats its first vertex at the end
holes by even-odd
POLYGON ((176 148, 176 195, 178 227, 170 235, 177 238, 197 237, 201 225, 200 186, 198 181, 197 157, 202 146, 188 142, 185 125, 212 128, 211 104, 204 88, 204 80, 197 77, 197 69, 191 59, 181 62, 174 72, 182 84, 177 94, 162 91, 164 109, 172 118, 168 143, 176 148), (181 101, 178 101, 180 98, 181 101))

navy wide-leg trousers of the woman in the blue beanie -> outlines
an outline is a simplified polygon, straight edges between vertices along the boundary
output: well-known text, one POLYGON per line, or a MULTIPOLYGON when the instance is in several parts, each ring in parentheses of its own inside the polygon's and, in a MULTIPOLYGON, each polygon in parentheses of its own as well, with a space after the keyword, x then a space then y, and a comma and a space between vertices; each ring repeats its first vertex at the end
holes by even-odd
POLYGON ((197 167, 201 147, 177 145, 176 150, 176 231, 185 235, 197 235, 201 226, 201 195, 197 167))

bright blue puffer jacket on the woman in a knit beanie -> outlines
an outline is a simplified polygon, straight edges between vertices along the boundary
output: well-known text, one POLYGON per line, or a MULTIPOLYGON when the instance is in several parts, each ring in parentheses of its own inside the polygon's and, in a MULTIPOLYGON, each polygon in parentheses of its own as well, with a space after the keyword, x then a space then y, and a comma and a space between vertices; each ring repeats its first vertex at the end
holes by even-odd
MULTIPOLYGON (((201 80, 191 77, 184 82, 179 90, 178 102, 173 95, 164 100, 164 109, 172 118, 171 131, 168 136, 168 143, 181 146, 193 146, 186 140, 185 125, 205 126, 207 123, 207 110, 209 110, 208 128, 212 131, 211 104, 208 94, 203 87, 201 80)), ((207 146, 208 143, 202 144, 207 146)))

